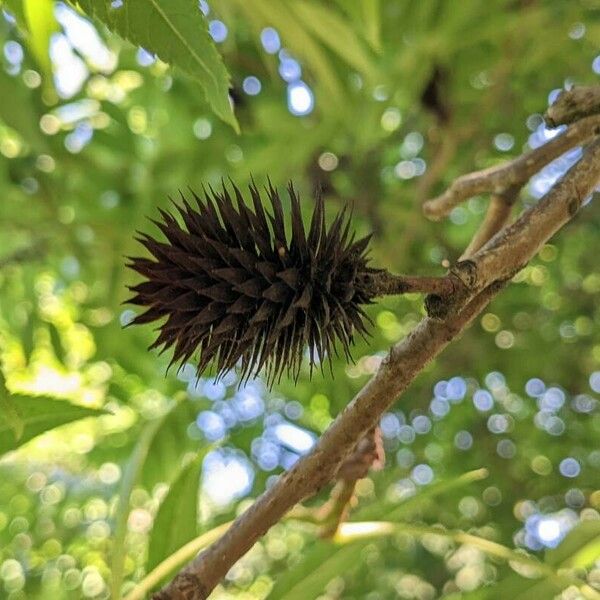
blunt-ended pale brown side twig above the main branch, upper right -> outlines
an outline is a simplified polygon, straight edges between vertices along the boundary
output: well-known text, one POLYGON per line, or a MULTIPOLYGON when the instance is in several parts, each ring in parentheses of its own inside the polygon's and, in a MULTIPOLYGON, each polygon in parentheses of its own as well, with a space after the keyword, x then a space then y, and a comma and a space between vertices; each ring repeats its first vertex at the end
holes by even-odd
POLYGON ((599 134, 600 115, 581 119, 543 146, 513 161, 459 177, 441 196, 425 202, 423 211, 438 220, 468 198, 485 192, 502 194, 513 186, 523 186, 542 167, 599 134))

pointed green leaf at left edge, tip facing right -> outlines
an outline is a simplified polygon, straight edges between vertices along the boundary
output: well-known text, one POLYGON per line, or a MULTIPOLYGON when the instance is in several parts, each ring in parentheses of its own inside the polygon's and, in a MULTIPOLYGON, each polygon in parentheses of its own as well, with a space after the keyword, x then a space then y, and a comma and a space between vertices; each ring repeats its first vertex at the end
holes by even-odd
POLYGON ((52 400, 42 396, 31 397, 18 394, 12 396, 11 402, 20 416, 22 430, 15 431, 15 424, 6 412, 0 414, 0 455, 15 450, 55 427, 86 417, 106 414, 103 410, 77 406, 66 400, 52 400), (21 435, 17 435, 18 432, 21 435))

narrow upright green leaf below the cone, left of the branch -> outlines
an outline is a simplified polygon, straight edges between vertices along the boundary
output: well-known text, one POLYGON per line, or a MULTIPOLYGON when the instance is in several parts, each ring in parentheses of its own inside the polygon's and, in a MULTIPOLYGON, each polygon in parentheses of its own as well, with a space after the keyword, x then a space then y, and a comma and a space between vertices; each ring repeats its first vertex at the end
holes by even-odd
POLYGON ((205 447, 181 469, 162 501, 150 536, 147 571, 196 536, 200 470, 208 450, 209 447, 205 447))

